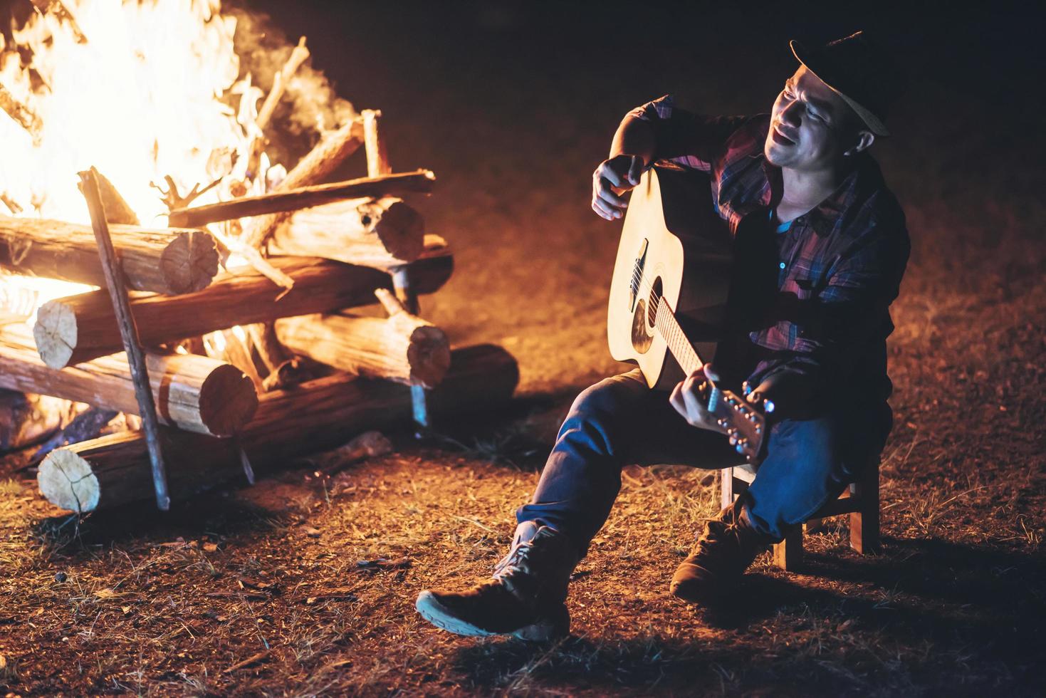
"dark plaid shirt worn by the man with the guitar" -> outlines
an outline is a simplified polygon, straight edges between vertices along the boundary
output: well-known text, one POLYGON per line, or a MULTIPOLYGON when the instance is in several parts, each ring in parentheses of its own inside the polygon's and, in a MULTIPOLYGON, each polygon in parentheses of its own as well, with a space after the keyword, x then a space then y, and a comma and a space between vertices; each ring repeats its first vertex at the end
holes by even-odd
MULTIPOLYGON (((889 306, 908 261, 905 217, 866 153, 818 206, 776 233, 770 216, 781 196, 781 172, 763 154, 770 115, 706 117, 675 109, 670 95, 638 107, 630 116, 649 121, 655 159, 700 170, 711 177, 711 200, 735 245, 765 251, 738 260, 760 269, 768 293, 750 309, 731 354, 743 357, 738 376, 752 386, 778 374, 782 390, 801 404, 814 401, 885 400, 886 337, 893 331, 889 306), (760 244, 761 243, 761 244, 760 244), (774 273, 776 272, 776 273, 774 273), (772 278, 776 276, 776 278, 772 278), (783 379, 783 380, 781 380, 783 379)), ((722 354, 722 352, 721 352, 722 354)), ((721 358, 717 356, 717 362, 721 358)))

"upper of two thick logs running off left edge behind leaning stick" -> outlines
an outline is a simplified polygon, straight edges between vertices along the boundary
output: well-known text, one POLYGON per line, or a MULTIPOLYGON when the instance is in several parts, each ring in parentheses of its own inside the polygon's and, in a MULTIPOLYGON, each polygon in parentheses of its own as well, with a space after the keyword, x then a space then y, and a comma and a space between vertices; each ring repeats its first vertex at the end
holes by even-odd
MULTIPOLYGON (((204 230, 114 225, 116 254, 135 291, 190 293, 218 273, 214 239, 204 230)), ((105 286, 91 226, 0 216, 0 267, 21 274, 105 286)))

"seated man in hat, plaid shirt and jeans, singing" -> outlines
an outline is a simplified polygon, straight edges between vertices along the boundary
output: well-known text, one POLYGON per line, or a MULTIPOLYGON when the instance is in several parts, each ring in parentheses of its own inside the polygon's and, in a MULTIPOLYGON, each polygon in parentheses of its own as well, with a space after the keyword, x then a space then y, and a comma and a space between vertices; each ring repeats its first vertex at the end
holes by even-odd
POLYGON ((511 548, 494 576, 464 591, 418 595, 417 610, 436 626, 525 639, 565 634, 570 573, 610 513, 624 464, 736 465, 701 402, 702 381, 747 378, 749 400, 776 409, 751 487, 707 522, 672 579, 685 601, 722 599, 760 550, 879 457, 891 424, 888 308, 909 243, 867 150, 888 135, 900 76, 861 32, 813 51, 791 46, 799 67, 769 115, 701 117, 662 97, 626 115, 593 178, 593 210, 616 220, 621 194, 657 160, 710 175, 712 203, 755 289, 737 311, 727 369, 717 368, 730 376, 706 366, 665 396, 637 369, 584 390, 531 501, 516 513, 511 548))

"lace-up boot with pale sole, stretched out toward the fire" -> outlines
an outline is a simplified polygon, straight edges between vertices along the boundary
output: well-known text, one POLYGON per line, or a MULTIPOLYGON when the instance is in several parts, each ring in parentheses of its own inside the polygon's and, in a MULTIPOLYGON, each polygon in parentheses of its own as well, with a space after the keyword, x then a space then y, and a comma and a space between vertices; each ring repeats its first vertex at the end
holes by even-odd
POLYGON ((527 521, 494 576, 464 591, 426 589, 414 607, 427 621, 458 635, 515 635, 547 640, 570 631, 567 583, 577 564, 569 539, 527 521))

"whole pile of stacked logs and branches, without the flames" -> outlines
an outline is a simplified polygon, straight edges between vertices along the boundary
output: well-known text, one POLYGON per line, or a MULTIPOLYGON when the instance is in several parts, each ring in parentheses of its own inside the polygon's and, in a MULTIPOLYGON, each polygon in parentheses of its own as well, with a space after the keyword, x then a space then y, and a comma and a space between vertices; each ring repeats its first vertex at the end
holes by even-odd
MULTIPOLYGON (((308 55, 299 48, 281 82, 308 55)), ((267 100, 268 114, 278 98, 267 100)), ((435 176, 391 171, 379 116, 365 112, 332 132, 258 196, 191 206, 218 181, 182 196, 165 178, 173 226, 165 230, 141 227, 96 177, 92 220, 104 213, 109 223, 115 254, 105 271, 116 287, 122 272, 128 308, 118 297, 118 321, 106 289, 49 300, 30 333, 24 309, 5 303, 0 389, 87 403, 104 416, 142 414, 139 400, 147 406, 151 391, 176 497, 365 429, 411 416, 428 425, 426 390, 437 415, 507 400, 519 379, 509 355, 492 346, 451 352, 442 330, 420 317, 417 296, 446 284, 453 255, 400 198, 429 193, 435 176), (361 144, 367 177, 324 183, 361 144), (218 222, 228 223, 203 229, 218 222), (219 274, 220 252, 223 264, 238 254, 249 267, 219 274), (359 312, 376 301, 384 313, 359 312), (132 327, 136 339, 124 344, 121 328, 132 327), (136 395, 124 348, 137 356, 138 343, 147 387, 136 368, 136 395)), ((88 226, 0 217, 0 268, 15 273, 105 286, 98 244, 88 226)), ((23 431, 53 430, 44 421, 23 431)), ((147 453, 142 432, 130 430, 66 446, 40 466, 41 491, 75 512, 150 499, 163 479, 152 477, 147 453)))

